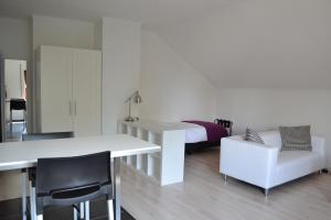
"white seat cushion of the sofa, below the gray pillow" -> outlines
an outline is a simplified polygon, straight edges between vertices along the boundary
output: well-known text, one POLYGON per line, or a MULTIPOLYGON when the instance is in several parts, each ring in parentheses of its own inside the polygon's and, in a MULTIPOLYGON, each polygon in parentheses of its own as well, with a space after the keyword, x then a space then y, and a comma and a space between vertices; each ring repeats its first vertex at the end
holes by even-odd
POLYGON ((274 180, 278 185, 317 172, 321 167, 321 156, 316 152, 279 152, 274 180))

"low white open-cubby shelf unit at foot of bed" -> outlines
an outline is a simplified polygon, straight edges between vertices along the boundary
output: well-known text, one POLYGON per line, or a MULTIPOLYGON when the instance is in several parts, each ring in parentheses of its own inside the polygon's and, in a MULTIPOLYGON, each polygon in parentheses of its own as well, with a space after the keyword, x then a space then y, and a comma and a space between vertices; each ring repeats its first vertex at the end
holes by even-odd
POLYGON ((124 157, 124 163, 157 178, 161 186, 183 182, 184 130, 178 130, 171 124, 154 121, 118 121, 117 132, 136 136, 162 147, 159 153, 124 157))

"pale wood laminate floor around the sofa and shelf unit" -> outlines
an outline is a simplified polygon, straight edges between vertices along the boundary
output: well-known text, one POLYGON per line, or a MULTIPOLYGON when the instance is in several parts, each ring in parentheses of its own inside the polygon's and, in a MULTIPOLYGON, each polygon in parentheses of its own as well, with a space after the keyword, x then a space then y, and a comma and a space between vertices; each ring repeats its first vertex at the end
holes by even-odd
POLYGON ((331 220, 331 175, 312 174, 271 189, 218 174, 218 150, 185 157, 184 183, 160 187, 122 166, 122 205, 138 220, 331 220))

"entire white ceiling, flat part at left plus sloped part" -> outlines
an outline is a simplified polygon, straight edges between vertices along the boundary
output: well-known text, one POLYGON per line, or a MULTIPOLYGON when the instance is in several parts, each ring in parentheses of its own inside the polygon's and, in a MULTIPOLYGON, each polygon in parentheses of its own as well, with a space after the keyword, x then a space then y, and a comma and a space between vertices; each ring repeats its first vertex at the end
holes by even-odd
POLYGON ((1 0, 0 16, 142 22, 220 88, 331 88, 330 0, 1 0))

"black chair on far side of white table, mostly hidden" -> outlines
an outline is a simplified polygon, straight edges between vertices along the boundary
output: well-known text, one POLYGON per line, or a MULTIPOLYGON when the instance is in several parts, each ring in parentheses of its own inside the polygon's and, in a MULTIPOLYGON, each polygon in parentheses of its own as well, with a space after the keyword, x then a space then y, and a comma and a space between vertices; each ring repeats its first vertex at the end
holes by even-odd
MULTIPOLYGON (((41 141, 41 140, 52 140, 52 139, 70 139, 74 138, 74 132, 51 132, 51 133, 25 133, 22 134, 22 141, 41 141)), ((26 169, 22 169, 22 175, 25 175, 26 169)), ((28 169, 29 182, 30 182, 30 218, 31 220, 35 219, 35 168, 28 169)), ((24 177, 23 177, 24 178, 24 177)), ((22 198, 26 198, 25 196, 26 186, 22 185, 22 198)), ((22 199, 23 212, 26 207, 26 199, 22 199)), ((23 213, 25 215, 25 213, 23 213)))

